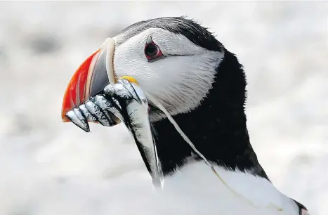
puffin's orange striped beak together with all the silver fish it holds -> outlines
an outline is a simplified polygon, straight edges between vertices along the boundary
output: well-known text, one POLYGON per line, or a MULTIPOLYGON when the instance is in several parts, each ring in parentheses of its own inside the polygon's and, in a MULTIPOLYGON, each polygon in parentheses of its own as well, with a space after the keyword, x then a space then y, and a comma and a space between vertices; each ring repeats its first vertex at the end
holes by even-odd
POLYGON ((147 98, 136 79, 116 77, 114 51, 114 40, 107 38, 73 74, 63 98, 63 122, 73 122, 84 131, 89 131, 88 122, 104 126, 124 122, 152 176, 153 184, 162 187, 162 167, 157 156, 155 131, 148 115, 147 98))

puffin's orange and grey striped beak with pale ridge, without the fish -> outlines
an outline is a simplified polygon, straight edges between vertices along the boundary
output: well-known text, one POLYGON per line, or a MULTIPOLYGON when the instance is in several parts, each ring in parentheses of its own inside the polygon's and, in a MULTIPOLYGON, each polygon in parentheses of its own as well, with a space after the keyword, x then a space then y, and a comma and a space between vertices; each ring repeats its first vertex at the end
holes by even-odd
POLYGON ((67 85, 62 106, 63 122, 70 122, 65 114, 78 107, 91 96, 95 96, 108 84, 114 84, 115 44, 107 38, 101 48, 84 60, 67 85))

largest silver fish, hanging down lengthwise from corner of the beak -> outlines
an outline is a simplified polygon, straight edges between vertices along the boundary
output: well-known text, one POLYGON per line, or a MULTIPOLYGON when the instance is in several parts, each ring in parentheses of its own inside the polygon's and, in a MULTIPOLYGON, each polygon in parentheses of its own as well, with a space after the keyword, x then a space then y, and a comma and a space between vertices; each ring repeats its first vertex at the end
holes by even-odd
POLYGON ((157 156, 155 139, 150 126, 148 103, 138 84, 119 79, 114 87, 105 88, 105 93, 121 98, 120 105, 126 110, 126 125, 138 146, 141 157, 152 176, 152 183, 162 187, 163 172, 157 156))

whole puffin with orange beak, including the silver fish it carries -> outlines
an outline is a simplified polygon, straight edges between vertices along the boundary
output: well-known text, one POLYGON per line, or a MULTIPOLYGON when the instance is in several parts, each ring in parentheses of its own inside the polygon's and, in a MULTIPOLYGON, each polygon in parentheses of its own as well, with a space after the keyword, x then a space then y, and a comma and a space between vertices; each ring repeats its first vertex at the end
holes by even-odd
POLYGON ((303 204, 275 188, 251 147, 246 86, 235 54, 205 27, 185 17, 155 18, 108 38, 81 64, 67 86, 62 117, 84 131, 88 122, 124 122, 153 183, 163 178, 161 192, 175 190, 181 198, 197 197, 206 200, 204 208, 215 209, 192 209, 195 214, 306 215, 303 204), (124 76, 138 84, 117 81, 124 76), (143 90, 166 108, 223 181, 143 90), (143 133, 143 126, 151 133, 143 133))

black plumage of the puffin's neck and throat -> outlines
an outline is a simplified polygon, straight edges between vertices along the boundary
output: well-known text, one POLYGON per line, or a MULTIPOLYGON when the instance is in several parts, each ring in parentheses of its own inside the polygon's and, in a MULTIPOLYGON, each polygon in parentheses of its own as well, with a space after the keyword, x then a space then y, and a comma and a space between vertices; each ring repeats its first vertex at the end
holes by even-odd
MULTIPOLYGON (((247 85, 244 70, 234 54, 224 51, 208 96, 195 110, 173 116, 173 119, 210 162, 232 170, 251 170, 254 175, 268 179, 249 142, 244 113, 247 85)), ((169 119, 153 122, 153 125, 164 175, 183 167, 190 156, 201 159, 169 119)))

